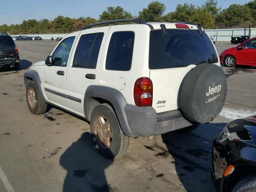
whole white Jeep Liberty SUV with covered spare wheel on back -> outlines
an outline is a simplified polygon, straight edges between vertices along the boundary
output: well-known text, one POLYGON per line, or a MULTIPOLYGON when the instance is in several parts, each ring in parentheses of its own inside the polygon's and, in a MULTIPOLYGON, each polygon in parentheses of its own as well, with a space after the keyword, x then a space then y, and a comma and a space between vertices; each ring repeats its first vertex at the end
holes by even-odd
POLYGON ((90 24, 24 74, 30 112, 54 104, 87 119, 107 158, 123 155, 130 137, 212 121, 227 91, 214 44, 200 26, 122 21, 136 24, 90 24))

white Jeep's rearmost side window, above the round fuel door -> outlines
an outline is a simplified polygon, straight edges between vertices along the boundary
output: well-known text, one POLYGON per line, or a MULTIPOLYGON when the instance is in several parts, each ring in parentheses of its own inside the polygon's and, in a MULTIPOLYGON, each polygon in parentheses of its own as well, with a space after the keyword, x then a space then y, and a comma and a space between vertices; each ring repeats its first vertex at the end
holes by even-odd
POLYGON ((106 69, 128 71, 132 65, 134 32, 114 32, 111 36, 106 58, 106 69))

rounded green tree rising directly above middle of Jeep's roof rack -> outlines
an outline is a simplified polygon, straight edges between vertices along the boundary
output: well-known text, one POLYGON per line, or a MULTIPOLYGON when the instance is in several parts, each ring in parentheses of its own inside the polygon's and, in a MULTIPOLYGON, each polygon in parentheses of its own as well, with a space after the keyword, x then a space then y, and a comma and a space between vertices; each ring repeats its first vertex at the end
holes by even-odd
POLYGON ((132 14, 124 10, 124 8, 108 7, 106 11, 100 14, 100 21, 115 20, 115 19, 128 19, 132 18, 132 14))

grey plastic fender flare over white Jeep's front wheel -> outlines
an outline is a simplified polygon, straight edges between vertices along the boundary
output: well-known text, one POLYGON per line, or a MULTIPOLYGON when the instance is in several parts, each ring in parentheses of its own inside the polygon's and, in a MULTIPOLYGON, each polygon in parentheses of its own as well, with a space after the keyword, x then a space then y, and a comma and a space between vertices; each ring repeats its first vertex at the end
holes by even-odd
POLYGON ((40 77, 39 77, 38 73, 37 73, 35 70, 29 70, 29 71, 27 71, 27 72, 24 73, 24 84, 25 84, 26 88, 27 88, 27 86, 28 86, 28 78, 33 79, 33 81, 35 82, 37 91, 38 91, 38 93, 40 94, 42 100, 43 100, 45 103, 48 103, 48 101, 46 100, 46 98, 44 97, 44 94, 43 94, 43 92, 42 92, 42 89, 41 89, 41 80, 40 80, 40 77))

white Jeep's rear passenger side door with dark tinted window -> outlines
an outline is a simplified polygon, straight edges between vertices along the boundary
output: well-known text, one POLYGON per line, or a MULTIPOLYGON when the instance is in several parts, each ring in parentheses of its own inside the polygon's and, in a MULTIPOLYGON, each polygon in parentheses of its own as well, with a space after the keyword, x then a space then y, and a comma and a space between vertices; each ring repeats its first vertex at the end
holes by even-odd
POLYGON ((72 52, 67 74, 68 104, 80 116, 84 116, 87 87, 98 85, 102 47, 109 28, 82 30, 72 52))

